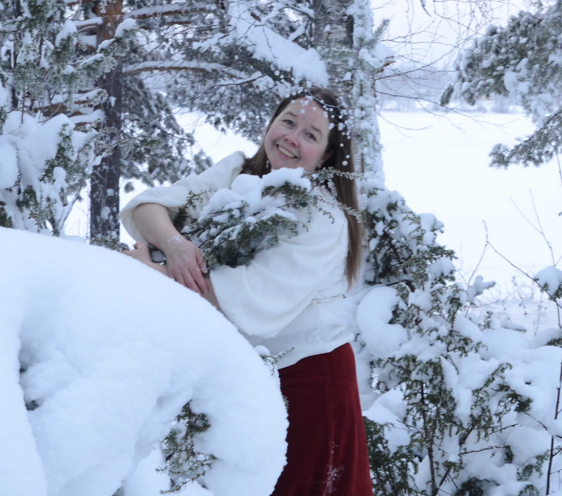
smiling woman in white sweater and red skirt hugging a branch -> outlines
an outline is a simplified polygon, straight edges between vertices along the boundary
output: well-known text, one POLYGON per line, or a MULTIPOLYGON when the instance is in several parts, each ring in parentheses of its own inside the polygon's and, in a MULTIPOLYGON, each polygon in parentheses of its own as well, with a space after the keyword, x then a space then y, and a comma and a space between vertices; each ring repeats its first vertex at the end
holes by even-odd
MULTIPOLYGON (((253 345, 264 345, 279 360, 281 390, 288 399, 287 465, 273 496, 368 496, 372 494, 355 362, 342 316, 343 297, 357 276, 360 228, 353 215, 330 205, 325 185, 315 193, 332 215, 297 211, 308 229, 279 236, 279 244, 258 246, 250 264, 217 267, 207 274, 197 246, 174 228, 189 191, 229 187, 240 173, 264 175, 271 169, 334 168, 353 172, 345 111, 328 89, 284 98, 264 140, 250 159, 237 152, 202 174, 170 187, 140 193, 121 218, 137 240, 164 251, 167 267, 153 264, 137 244, 128 252, 211 301, 253 345)), ((357 209, 355 183, 334 177, 337 200, 357 209)), ((205 193, 209 199, 211 193, 205 193)), ((189 214, 197 217, 193 208, 189 214)))

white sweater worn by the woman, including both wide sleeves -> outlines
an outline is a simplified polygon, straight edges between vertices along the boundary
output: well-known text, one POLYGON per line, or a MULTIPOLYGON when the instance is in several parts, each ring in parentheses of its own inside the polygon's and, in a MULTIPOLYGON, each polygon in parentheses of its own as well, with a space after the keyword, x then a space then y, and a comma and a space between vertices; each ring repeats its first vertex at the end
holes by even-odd
MULTIPOLYGON (((169 187, 159 186, 134 197, 121 211, 121 221, 129 234, 143 241, 135 228, 132 213, 142 203, 164 205, 174 215, 185 205, 189 191, 212 193, 228 188, 241 172, 242 152, 235 152, 205 172, 182 179, 169 187)), ((318 187, 316 193, 331 199, 318 187)), ((263 345, 287 367, 298 360, 328 353, 353 335, 345 331, 343 298, 347 290, 347 220, 341 209, 324 205, 333 218, 314 210, 309 229, 297 236, 279 236, 279 244, 257 247, 250 264, 240 267, 216 267, 210 278, 220 308, 238 326, 252 345, 263 345)), ((307 214, 295 211, 301 222, 307 214)), ((189 212, 197 218, 200 208, 189 212)))

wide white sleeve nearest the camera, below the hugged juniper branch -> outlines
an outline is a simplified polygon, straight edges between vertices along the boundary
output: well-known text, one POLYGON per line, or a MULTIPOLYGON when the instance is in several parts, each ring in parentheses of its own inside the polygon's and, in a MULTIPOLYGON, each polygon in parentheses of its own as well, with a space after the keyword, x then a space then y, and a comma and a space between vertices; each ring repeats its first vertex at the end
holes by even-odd
POLYGON ((310 304, 327 273, 338 265, 343 270, 347 220, 339 209, 333 215, 332 222, 315 211, 308 231, 290 238, 279 236, 277 246, 257 252, 250 264, 211 270, 220 308, 241 331, 275 336, 310 304))

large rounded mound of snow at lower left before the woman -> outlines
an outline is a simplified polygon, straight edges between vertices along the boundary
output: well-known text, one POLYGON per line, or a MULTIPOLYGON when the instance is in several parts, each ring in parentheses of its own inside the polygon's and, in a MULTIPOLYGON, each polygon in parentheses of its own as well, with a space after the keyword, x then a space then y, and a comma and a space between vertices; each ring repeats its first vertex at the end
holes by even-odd
MULTIPOLYGON (((287 413, 268 368, 223 315, 116 252, 15 229, 0 228, 0 238, 10 253, 0 418, 13 426, 0 444, 2 489, 114 494, 191 400, 210 422, 197 442, 217 457, 209 492, 273 491, 287 413)), ((202 494, 194 491, 185 494, 202 494)))

